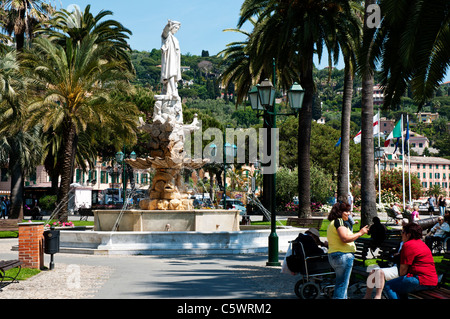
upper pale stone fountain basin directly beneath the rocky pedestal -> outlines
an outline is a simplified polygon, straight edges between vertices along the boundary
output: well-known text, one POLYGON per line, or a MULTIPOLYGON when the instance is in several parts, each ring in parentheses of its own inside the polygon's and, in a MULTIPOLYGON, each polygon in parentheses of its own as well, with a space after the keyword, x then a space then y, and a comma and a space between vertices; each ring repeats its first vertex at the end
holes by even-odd
MULTIPOLYGON (((95 210, 94 231, 112 231, 120 210, 95 210)), ((126 210, 117 231, 239 231, 239 210, 126 210)))

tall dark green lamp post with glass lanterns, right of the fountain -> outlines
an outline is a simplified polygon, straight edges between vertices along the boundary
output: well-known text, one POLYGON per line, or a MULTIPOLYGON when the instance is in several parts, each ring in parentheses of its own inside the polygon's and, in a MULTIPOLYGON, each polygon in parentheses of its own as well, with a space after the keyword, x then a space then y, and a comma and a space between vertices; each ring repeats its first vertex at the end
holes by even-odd
MULTIPOLYGON (((274 82, 275 82, 275 70, 274 70, 274 82)), ((294 83, 288 91, 288 99, 290 107, 295 111, 291 114, 279 114, 279 115, 297 115, 298 110, 302 107, 303 97, 305 91, 298 83, 294 83)), ((269 129, 276 128, 277 111, 275 107, 275 88, 273 84, 268 80, 264 80, 261 84, 253 87, 249 92, 249 100, 253 110, 264 111, 264 121, 266 122, 269 129)), ((270 211, 271 211, 271 221, 270 221, 270 235, 268 238, 269 243, 269 254, 267 266, 279 266, 278 261, 278 235, 276 233, 276 163, 275 163, 275 152, 276 143, 275 139, 270 134, 269 145, 271 148, 270 155, 272 157, 272 167, 273 173, 271 174, 271 189, 270 189, 270 211)), ((266 191, 266 190, 264 190, 266 191)))

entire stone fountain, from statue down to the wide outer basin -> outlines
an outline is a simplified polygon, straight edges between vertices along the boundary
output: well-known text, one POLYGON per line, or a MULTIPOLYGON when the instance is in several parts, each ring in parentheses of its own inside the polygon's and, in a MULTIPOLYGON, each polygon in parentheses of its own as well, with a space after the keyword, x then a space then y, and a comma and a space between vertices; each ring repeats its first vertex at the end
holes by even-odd
MULTIPOLYGON (((64 231, 61 252, 85 254, 171 255, 241 254, 267 252, 270 230, 242 231, 239 211, 193 209, 183 185, 181 170, 202 167, 207 160, 185 159, 185 135, 200 129, 197 118, 183 123, 177 82, 181 80, 180 48, 174 34, 180 23, 167 23, 162 33, 161 95, 152 123, 141 120, 141 129, 150 133, 150 156, 127 160, 134 168, 154 169, 156 175, 137 210, 94 211, 93 231, 64 231)), ((280 249, 299 229, 278 231, 280 249)))

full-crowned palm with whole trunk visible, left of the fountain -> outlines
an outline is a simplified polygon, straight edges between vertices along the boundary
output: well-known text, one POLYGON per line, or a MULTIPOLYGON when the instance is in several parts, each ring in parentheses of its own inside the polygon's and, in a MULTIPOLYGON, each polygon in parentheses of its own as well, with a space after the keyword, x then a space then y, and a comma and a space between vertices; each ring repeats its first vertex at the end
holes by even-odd
MULTIPOLYGON (((116 91, 131 90, 126 62, 105 58, 108 46, 97 43, 97 36, 86 36, 65 47, 50 39, 39 38, 34 50, 23 56, 36 93, 30 104, 29 125, 42 123, 44 131, 62 131, 63 162, 58 200, 67 198, 72 181, 78 137, 91 123, 100 123, 118 134, 135 139, 138 110, 132 103, 121 101, 116 91)), ((67 218, 67 207, 58 218, 67 218)))

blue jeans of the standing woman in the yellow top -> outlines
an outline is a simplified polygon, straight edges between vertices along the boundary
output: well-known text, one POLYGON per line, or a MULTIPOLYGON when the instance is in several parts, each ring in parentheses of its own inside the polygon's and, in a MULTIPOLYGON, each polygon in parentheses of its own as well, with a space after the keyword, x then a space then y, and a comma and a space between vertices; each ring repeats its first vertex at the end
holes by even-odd
POLYGON ((333 299, 347 299, 347 288, 354 259, 355 256, 352 253, 335 252, 328 255, 328 261, 336 272, 333 299))

